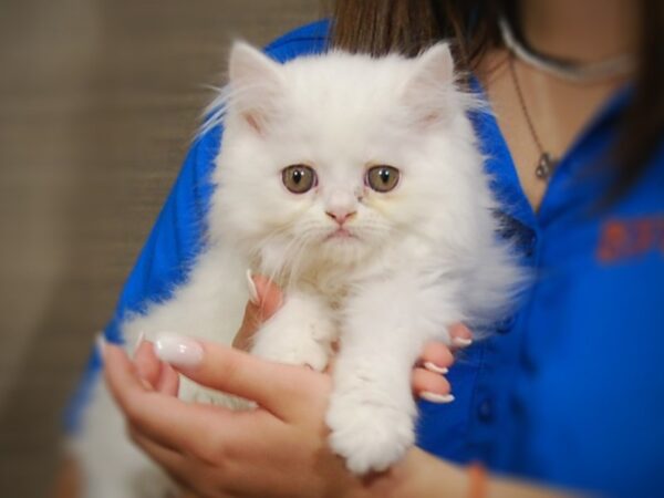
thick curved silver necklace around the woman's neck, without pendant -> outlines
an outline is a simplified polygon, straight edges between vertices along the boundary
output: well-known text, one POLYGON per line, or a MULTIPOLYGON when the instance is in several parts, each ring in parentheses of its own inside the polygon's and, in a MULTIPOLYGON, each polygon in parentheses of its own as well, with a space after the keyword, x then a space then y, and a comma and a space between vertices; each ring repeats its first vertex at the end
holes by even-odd
POLYGON ((594 83, 625 76, 635 68, 635 59, 630 53, 624 53, 611 59, 598 62, 572 62, 542 56, 532 52, 515 37, 507 18, 498 19, 500 34, 505 46, 519 60, 536 68, 539 71, 551 74, 573 83, 594 83))

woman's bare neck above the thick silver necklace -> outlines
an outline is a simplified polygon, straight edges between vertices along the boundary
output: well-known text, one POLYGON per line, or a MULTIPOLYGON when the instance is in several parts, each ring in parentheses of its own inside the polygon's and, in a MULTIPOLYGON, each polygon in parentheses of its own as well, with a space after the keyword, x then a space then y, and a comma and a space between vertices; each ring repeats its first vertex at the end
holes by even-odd
POLYGON ((553 58, 596 62, 637 44, 635 0, 522 0, 519 17, 526 42, 553 58))

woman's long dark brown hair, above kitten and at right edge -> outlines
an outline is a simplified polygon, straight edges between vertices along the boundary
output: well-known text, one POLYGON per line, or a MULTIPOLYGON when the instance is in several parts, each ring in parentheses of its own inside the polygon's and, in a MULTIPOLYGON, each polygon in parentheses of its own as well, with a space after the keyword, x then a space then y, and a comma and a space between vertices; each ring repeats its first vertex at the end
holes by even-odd
MULTIPOLYGON (((618 177, 615 200, 634 185, 664 132, 664 2, 641 0, 641 41, 634 95, 610 151, 618 177)), ((336 0, 333 45, 351 52, 416 55, 438 40, 452 43, 461 71, 476 71, 483 54, 500 46, 498 17, 516 19, 516 0, 336 0)))

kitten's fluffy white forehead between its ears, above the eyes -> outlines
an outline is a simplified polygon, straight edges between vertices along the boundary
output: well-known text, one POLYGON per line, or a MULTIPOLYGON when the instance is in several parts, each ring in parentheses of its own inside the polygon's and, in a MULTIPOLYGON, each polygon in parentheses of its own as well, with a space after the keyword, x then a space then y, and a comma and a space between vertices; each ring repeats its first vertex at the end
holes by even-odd
POLYGON ((345 53, 287 63, 287 117, 279 128, 318 151, 328 146, 331 153, 343 147, 344 153, 364 154, 396 132, 394 117, 411 65, 398 56, 345 53))

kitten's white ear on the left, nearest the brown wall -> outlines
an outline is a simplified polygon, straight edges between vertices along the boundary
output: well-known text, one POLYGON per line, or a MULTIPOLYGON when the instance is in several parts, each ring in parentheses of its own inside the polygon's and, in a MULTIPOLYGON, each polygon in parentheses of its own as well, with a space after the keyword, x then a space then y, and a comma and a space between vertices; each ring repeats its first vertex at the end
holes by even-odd
POLYGON ((281 65, 245 42, 236 42, 228 63, 229 106, 262 134, 284 91, 281 65))

